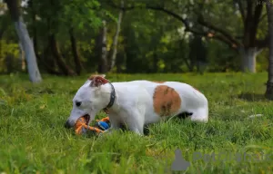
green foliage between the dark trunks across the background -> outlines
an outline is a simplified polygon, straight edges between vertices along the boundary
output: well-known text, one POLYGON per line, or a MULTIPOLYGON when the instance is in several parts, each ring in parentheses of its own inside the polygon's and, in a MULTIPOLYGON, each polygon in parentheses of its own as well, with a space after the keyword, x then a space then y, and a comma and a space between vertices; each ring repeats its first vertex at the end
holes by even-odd
MULTIPOLYGON (((101 29, 103 20, 106 20, 106 46, 108 59, 110 59, 112 53, 110 48, 116 34, 116 22, 120 10, 113 7, 113 3, 119 6, 121 0, 27 1, 27 5, 23 8, 24 20, 31 38, 35 39, 39 67, 45 70, 45 63, 48 60, 54 62, 52 64, 56 64, 52 53, 47 49, 49 34, 55 34, 64 62, 72 69, 75 68, 69 35, 69 31, 73 30, 81 63, 86 71, 96 71, 100 63, 98 54, 100 49, 96 47, 96 40, 99 38, 98 31, 101 29)), ((127 7, 134 6, 136 8, 124 12, 118 37, 115 72, 196 72, 198 61, 207 63, 207 72, 238 72, 240 69, 241 55, 239 53, 227 47, 226 43, 205 39, 205 37, 202 38, 204 46, 199 47, 198 44, 192 43, 192 38, 196 35, 185 33, 185 24, 170 15, 173 13, 184 19, 187 18, 189 25, 192 25, 194 29, 206 32, 207 27, 203 27, 197 22, 202 14, 206 22, 214 24, 234 38, 238 38, 238 41, 242 43, 244 24, 235 1, 126 0, 124 3, 127 7), (149 6, 164 7, 168 13, 147 9, 149 6)), ((3 9, 4 4, 0 5, 3 9)), ((243 5, 246 7, 246 2, 243 2, 243 5)), ((263 8, 260 18, 257 38, 263 39, 268 34, 265 8, 263 8)), ((9 41, 8 44, 15 49, 11 54, 16 59, 18 50, 14 46, 18 43, 18 38, 7 11, 0 15, 0 23, 2 26, 8 24, 8 28, 0 38, 4 42, 1 50, 11 51, 5 45, 5 41, 9 41)), ((2 27, 0 34, 1 31, 2 27)), ((11 68, 5 64, 5 53, 3 51, 0 53, 0 73, 5 73, 6 69, 11 68)), ((257 71, 266 71, 268 51, 264 50, 258 54, 257 60, 257 71)), ((14 62, 17 61, 14 60, 14 62)), ((13 67, 12 72, 16 72, 17 69, 13 67)), ((58 70, 57 65, 56 70, 58 70)))

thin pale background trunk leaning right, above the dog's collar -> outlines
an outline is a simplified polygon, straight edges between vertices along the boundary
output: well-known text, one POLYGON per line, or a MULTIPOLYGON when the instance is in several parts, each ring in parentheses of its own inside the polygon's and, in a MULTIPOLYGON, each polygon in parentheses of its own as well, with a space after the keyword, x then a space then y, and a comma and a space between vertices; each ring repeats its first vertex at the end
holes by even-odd
MULTIPOLYGON (((121 7, 123 7, 124 2, 121 1, 121 7)), ((117 42, 118 42, 118 36, 119 36, 119 31, 120 31, 120 25, 122 22, 122 16, 123 16, 123 10, 119 10, 119 14, 118 14, 118 21, 116 24, 116 34, 113 40, 113 44, 112 44, 112 56, 111 56, 111 64, 110 64, 110 71, 114 68, 115 64, 116 64, 116 46, 117 46, 117 42)))

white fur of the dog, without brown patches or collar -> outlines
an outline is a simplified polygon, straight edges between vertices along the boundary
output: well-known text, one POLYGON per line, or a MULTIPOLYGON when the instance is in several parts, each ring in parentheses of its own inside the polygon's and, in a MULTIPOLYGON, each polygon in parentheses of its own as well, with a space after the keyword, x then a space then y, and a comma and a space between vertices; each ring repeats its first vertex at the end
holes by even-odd
MULTIPOLYGON (((87 81, 73 99, 73 110, 68 122, 73 126, 77 119, 88 113, 90 121, 95 119, 98 111, 106 107, 110 100, 111 86, 109 83, 99 87, 90 87, 87 81), (75 102, 82 102, 76 107, 75 102)), ((182 82, 112 82, 116 91, 116 101, 109 109, 111 127, 107 131, 116 130, 120 123, 125 123, 130 131, 143 134, 144 125, 156 123, 162 119, 153 107, 153 95, 157 85, 167 85, 174 88, 181 97, 181 106, 176 115, 182 112, 192 112, 191 121, 208 121, 208 102, 201 92, 182 82)), ((88 122, 88 124, 90 123, 88 122)))

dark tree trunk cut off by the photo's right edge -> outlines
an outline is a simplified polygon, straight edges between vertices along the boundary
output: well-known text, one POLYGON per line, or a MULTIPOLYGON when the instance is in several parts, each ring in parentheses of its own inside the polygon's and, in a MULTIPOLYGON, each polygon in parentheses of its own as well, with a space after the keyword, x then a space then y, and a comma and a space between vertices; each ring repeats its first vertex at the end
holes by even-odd
POLYGON ((273 5, 268 1, 268 32, 269 32, 269 58, 268 58, 268 82, 265 93, 269 100, 273 100, 273 5))

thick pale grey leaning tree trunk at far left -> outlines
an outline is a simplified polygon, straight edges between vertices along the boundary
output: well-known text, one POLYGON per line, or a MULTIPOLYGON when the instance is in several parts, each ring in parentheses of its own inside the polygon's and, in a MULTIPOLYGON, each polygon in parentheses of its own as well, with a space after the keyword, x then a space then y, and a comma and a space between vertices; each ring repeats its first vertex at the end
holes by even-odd
POLYGON ((8 0, 6 1, 6 4, 11 17, 15 22, 15 31, 24 48, 29 79, 31 82, 42 82, 42 77, 36 63, 35 50, 27 32, 23 17, 20 14, 19 2, 17 0, 8 0))

